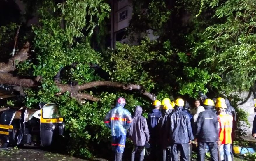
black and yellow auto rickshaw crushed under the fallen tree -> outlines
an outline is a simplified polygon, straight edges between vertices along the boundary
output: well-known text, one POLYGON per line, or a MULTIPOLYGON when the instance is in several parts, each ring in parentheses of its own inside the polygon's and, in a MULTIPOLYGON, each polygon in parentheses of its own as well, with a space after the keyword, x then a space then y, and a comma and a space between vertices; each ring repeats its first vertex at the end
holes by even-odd
POLYGON ((8 145, 50 146, 63 135, 65 124, 56 104, 39 104, 40 110, 5 109, 0 111, 0 148, 8 145))

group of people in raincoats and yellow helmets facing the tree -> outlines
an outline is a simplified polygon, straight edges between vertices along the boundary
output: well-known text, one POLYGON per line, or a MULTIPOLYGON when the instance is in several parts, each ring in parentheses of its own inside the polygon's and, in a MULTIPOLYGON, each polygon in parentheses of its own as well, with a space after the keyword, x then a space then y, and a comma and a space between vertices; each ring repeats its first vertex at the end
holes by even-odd
POLYGON ((118 98, 104 118, 111 128, 113 160, 122 160, 128 137, 134 144, 131 161, 143 161, 145 147, 150 147, 150 160, 190 161, 193 146, 198 161, 204 161, 206 149, 212 161, 233 161, 236 112, 227 98, 209 99, 199 92, 194 107, 182 98, 155 100, 147 119, 141 116, 140 106, 131 116, 125 103, 124 98, 118 98))

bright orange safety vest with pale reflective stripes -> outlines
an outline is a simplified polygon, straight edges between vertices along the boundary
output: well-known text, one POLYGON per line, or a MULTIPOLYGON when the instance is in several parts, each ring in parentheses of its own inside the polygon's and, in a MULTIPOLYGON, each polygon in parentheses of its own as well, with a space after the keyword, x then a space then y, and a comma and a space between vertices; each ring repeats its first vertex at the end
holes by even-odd
POLYGON ((219 137, 222 144, 231 144, 233 117, 226 113, 218 115, 219 137))

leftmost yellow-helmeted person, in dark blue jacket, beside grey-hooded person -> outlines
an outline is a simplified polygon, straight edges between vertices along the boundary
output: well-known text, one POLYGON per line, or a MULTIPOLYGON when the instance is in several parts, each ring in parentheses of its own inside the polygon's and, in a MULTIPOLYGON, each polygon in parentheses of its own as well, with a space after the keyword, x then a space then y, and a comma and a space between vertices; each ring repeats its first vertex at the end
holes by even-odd
POLYGON ((149 134, 150 134, 150 156, 152 160, 157 160, 158 156, 158 149, 157 149, 157 121, 158 119, 162 116, 162 113, 159 111, 161 107, 161 102, 159 100, 155 100, 153 102, 153 107, 154 109, 150 114, 148 114, 148 129, 149 129, 149 134))

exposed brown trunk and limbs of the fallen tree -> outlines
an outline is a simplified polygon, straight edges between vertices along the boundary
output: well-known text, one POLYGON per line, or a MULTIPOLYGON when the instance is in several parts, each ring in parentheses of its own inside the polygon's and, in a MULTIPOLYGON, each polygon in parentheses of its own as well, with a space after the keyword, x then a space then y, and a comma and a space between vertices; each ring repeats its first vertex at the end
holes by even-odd
MULTIPOLYGON (((16 86, 14 89, 20 91, 21 94, 24 94, 22 87, 36 87, 40 84, 40 76, 36 77, 35 79, 27 79, 14 76, 13 74, 9 73, 15 70, 17 63, 26 61, 29 58, 28 52, 29 42, 25 43, 23 48, 15 56, 11 57, 7 63, 0 63, 0 84, 9 84, 16 86)), ((57 95, 64 92, 70 92, 70 96, 76 98, 78 101, 81 101, 83 99, 91 101, 100 100, 100 98, 94 97, 93 95, 80 92, 85 89, 94 88, 96 86, 109 86, 123 90, 139 91, 142 95, 145 95, 150 100, 156 100, 154 94, 145 91, 143 87, 137 84, 123 84, 111 81, 94 81, 81 85, 70 86, 69 84, 60 84, 59 82, 60 81, 55 81, 57 87, 60 89, 60 93, 57 93, 57 95)))

